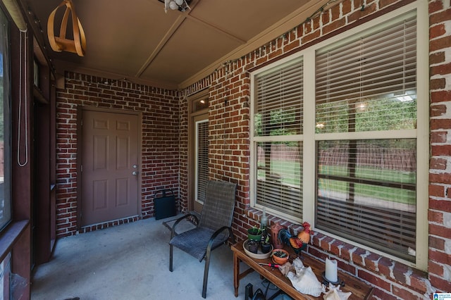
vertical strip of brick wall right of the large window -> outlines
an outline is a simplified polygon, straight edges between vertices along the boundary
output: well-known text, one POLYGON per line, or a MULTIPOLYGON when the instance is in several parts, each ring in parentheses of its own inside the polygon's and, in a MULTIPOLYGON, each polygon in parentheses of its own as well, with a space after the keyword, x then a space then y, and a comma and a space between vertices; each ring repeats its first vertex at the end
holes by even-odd
POLYGON ((451 292, 451 4, 429 1, 429 280, 451 292))

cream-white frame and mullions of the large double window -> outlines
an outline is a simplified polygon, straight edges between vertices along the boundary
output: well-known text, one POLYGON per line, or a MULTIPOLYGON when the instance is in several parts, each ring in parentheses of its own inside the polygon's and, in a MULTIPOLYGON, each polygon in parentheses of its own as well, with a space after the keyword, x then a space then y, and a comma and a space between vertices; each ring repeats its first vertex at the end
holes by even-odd
MULTIPOLYGON (((343 242, 347 242, 349 244, 354 244, 363 249, 368 249, 376 254, 381 254, 382 256, 391 258, 395 261, 400 261, 406 265, 410 265, 412 267, 418 268, 420 270, 427 270, 428 268, 428 168, 429 168, 429 78, 428 78, 428 44, 429 44, 429 23, 428 23, 428 1, 419 0, 415 1, 411 4, 403 6, 402 8, 398 8, 395 11, 391 11, 390 13, 386 13, 381 17, 370 20, 364 25, 354 27, 351 30, 347 30, 346 32, 342 32, 340 35, 336 35, 335 37, 331 37, 330 39, 326 39, 323 42, 315 44, 303 51, 299 51, 297 54, 292 56, 285 57, 280 59, 275 63, 271 63, 266 65, 264 68, 260 68, 259 70, 255 70, 251 73, 251 99, 252 105, 250 109, 251 113, 251 124, 250 124, 250 200, 251 206, 253 208, 262 209, 262 206, 256 204, 256 186, 255 182, 256 178, 256 170, 255 170, 255 160, 257 158, 256 155, 256 147, 255 142, 264 141, 266 137, 254 137, 254 77, 258 74, 261 74, 271 68, 274 68, 277 65, 285 63, 287 61, 291 61, 299 56, 304 56, 304 132, 303 135, 294 135, 283 137, 284 140, 299 140, 303 139, 303 218, 302 220, 293 219, 291 216, 284 215, 282 213, 278 213, 278 211, 273 211, 268 209, 268 213, 276 215, 285 220, 289 220, 295 223, 302 223, 302 221, 307 221, 310 224, 315 226, 314 224, 314 215, 315 215, 315 201, 316 199, 316 180, 315 180, 315 169, 316 169, 316 160, 311 159, 312 157, 316 157, 316 140, 319 139, 319 135, 315 135, 315 78, 311 76, 309 72, 311 70, 315 70, 315 51, 320 49, 328 44, 332 44, 334 42, 339 42, 350 35, 355 35, 359 32, 367 30, 372 27, 376 27, 381 25, 389 20, 396 18, 398 15, 402 15, 403 13, 407 13, 409 11, 416 10, 416 20, 417 20, 417 67, 416 67, 416 85, 417 85, 417 99, 424 99, 423 101, 417 101, 417 129, 416 130, 403 130, 402 135, 405 137, 414 137, 416 138, 417 143, 417 173, 416 173, 416 262, 412 263, 409 261, 404 261, 395 256, 391 256, 389 254, 385 254, 382 251, 378 251, 376 249, 371 249, 368 246, 364 246, 362 244, 352 242, 350 240, 344 239, 342 237, 337 237, 335 235, 331 235, 328 232, 323 232, 321 230, 317 230, 325 235, 330 237, 334 237, 343 242), (313 101, 312 101, 313 99, 313 101), (309 142, 311 141, 311 142, 309 142), (427 146, 426 146, 427 145, 427 146)), ((337 139, 339 135, 334 134, 333 137, 328 134, 321 135, 321 139, 337 139)), ((350 133, 346 133, 347 139, 350 138, 350 133)), ((353 132, 352 138, 361 139, 364 137, 381 139, 387 138, 388 132, 353 132)))

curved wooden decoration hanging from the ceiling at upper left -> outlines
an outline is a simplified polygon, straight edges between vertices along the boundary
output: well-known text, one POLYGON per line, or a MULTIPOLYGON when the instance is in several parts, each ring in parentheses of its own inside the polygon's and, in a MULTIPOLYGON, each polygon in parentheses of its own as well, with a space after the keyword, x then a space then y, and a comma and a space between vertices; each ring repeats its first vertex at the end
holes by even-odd
POLYGON ((82 24, 80 20, 77 18, 77 14, 75 13, 75 8, 71 0, 64 0, 58 5, 54 11, 52 11, 49 15, 49 20, 47 21, 47 35, 49 36, 49 43, 51 49, 56 52, 68 51, 72 53, 76 53, 79 56, 85 55, 86 49, 86 37, 85 32, 83 31, 82 24), (55 37, 54 34, 54 20, 56 11, 61 6, 66 6, 66 11, 64 11, 63 19, 61 20, 61 27, 59 36, 55 37), (73 27, 73 40, 66 39, 66 30, 68 25, 69 14, 72 16, 72 27, 73 27))

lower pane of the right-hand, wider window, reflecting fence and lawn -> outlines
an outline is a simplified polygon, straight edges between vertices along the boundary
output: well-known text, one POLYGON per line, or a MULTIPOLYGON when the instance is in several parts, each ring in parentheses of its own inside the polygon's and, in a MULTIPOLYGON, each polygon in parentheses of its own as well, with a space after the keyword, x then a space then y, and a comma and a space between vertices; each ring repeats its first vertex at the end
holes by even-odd
POLYGON ((416 140, 318 142, 316 227, 414 261, 416 140))

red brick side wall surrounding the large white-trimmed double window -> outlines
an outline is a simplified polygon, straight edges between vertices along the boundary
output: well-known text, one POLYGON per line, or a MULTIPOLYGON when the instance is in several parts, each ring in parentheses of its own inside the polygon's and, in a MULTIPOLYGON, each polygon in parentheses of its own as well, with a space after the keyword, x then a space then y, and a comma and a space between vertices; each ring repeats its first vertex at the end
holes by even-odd
MULTIPOLYGON (((210 177, 237 182, 233 220, 238 238, 259 222, 249 208, 249 75, 248 70, 288 56, 309 42, 342 32, 411 0, 345 0, 310 22, 290 30, 209 77, 210 177), (363 5, 363 10, 362 10, 363 5)), ((309 254, 336 258, 339 267, 376 287, 374 299, 431 299, 431 292, 451 292, 451 8, 450 0, 429 1, 431 65, 431 169, 429 187, 428 272, 410 268, 365 249, 316 233, 309 254)), ((190 93, 195 88, 190 87, 190 93)), ((187 104, 185 104, 187 105, 187 104)), ((186 107, 182 107, 186 110, 186 107)), ((269 216, 270 223, 295 226, 269 216)))

